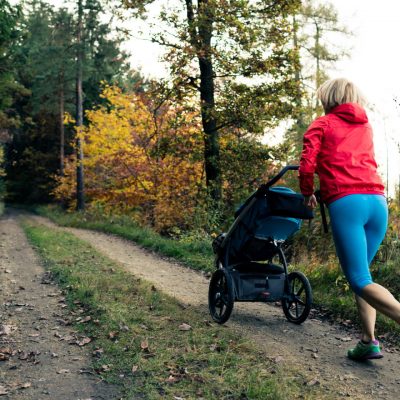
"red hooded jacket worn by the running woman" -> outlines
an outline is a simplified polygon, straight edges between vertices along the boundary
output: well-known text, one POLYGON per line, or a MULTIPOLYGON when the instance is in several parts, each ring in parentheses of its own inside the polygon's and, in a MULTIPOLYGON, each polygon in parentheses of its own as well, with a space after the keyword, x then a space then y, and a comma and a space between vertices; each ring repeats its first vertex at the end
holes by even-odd
POLYGON ((348 194, 384 194, 372 128, 361 106, 341 104, 309 126, 299 168, 300 190, 305 196, 314 191, 314 173, 319 175, 325 203, 348 194))

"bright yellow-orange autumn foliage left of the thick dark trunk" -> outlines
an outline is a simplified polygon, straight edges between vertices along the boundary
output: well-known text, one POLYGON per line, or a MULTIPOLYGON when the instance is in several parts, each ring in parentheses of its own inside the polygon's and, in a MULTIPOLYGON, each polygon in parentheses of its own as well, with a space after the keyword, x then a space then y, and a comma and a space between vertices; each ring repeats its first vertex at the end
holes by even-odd
MULTIPOLYGON (((186 226, 203 184, 203 138, 193 111, 105 86, 108 105, 86 113, 81 134, 86 193, 105 208, 139 210, 158 230, 186 226), (154 101, 155 103, 155 101, 154 101)), ((74 196, 73 158, 55 190, 74 196)))

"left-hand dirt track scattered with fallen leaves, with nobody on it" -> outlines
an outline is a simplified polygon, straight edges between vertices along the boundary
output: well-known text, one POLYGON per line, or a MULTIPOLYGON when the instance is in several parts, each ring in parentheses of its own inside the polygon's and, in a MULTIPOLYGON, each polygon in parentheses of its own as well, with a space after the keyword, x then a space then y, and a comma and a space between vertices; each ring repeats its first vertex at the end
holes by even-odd
POLYGON ((13 214, 0 219, 0 277, 0 398, 119 398, 90 371, 89 349, 69 326, 77 316, 66 314, 13 214))

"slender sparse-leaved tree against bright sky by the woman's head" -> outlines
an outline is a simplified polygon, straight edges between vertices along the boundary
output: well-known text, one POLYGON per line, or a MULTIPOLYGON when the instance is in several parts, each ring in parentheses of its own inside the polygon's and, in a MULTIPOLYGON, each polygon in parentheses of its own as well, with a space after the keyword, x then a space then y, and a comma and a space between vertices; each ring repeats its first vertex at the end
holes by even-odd
POLYGON ((323 112, 315 98, 316 89, 329 79, 329 70, 335 63, 347 57, 343 37, 349 37, 351 33, 340 24, 333 4, 315 4, 314 0, 302 3, 292 15, 292 26, 293 49, 300 63, 295 66, 297 108, 286 139, 287 146, 292 148, 289 158, 298 160, 307 126, 323 112))

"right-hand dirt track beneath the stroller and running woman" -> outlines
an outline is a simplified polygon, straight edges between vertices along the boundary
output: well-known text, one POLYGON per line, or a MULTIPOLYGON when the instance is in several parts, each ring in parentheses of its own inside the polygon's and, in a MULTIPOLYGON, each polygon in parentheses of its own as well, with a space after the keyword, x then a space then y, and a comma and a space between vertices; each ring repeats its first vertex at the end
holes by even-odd
MULTIPOLYGON (((47 219, 31 217, 54 227, 47 219)), ((83 229, 60 228, 87 241, 127 271, 151 281, 179 301, 207 313, 208 280, 203 274, 164 260, 121 238, 83 229)), ((356 332, 339 324, 309 318, 300 326, 286 321, 280 307, 235 303, 227 326, 246 335, 277 362, 307 371, 308 384, 320 386, 321 397, 398 399, 400 354, 386 349, 383 360, 355 363, 345 357, 357 342, 356 332)))

